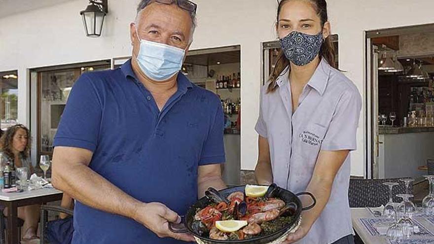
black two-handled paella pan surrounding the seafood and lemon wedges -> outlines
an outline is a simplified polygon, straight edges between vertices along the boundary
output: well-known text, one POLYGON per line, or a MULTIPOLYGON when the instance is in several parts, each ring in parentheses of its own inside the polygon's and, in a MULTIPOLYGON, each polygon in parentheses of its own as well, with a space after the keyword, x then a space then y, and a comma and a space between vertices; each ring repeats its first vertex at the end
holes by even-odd
MULTIPOLYGON (((229 196, 233 192, 237 192, 237 191, 245 192, 245 188, 246 186, 236 186, 236 187, 226 188, 218 192, 223 197, 227 198, 227 196, 229 196)), ((268 197, 280 198, 281 200, 285 201, 287 206, 291 206, 290 214, 291 216, 293 216, 291 218, 291 221, 289 221, 287 225, 283 226, 281 229, 271 234, 258 236, 258 237, 245 239, 245 240, 227 240, 227 241, 214 240, 214 239, 201 236, 199 233, 197 233, 197 231, 194 230, 194 228, 192 228, 192 225, 193 222, 195 221, 194 215, 196 214, 197 209, 204 209, 210 204, 213 204, 213 202, 208 197, 203 197, 199 199, 193 206, 191 206, 188 209, 187 214, 185 215, 185 217, 182 218, 181 225, 169 224, 169 228, 172 232, 175 233, 190 233, 191 235, 195 236, 196 238, 199 238, 203 243, 206 244, 267 244, 279 239, 280 237, 285 235, 291 228, 295 227, 300 220, 301 211, 312 209, 316 205, 316 199, 310 192, 300 192, 294 194, 289 190, 276 186, 275 184, 272 184, 269 187, 269 192, 267 192, 267 195, 268 197), (313 204, 309 207, 303 208, 301 205, 301 201, 298 198, 298 196, 301 195, 310 196, 313 199, 313 204)))

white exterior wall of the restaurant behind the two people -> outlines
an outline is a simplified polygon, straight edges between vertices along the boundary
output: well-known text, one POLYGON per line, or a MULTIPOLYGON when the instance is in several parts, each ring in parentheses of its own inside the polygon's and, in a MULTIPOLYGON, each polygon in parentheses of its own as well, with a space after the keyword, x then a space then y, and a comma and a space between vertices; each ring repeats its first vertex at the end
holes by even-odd
MULTIPOLYGON (((253 169, 257 145, 253 128, 258 114, 260 43, 274 40, 276 0, 195 0, 199 26, 192 49, 241 45, 243 88, 242 169, 253 169)), ((30 124, 28 68, 102 60, 130 55, 129 22, 137 0, 109 0, 103 36, 87 38, 78 12, 87 0, 0 19, 0 70, 18 70, 21 123, 30 124)), ((333 33, 339 34, 339 65, 364 92, 364 31, 433 21, 433 0, 328 0, 333 33)), ((32 117, 33 119, 33 117, 32 117)), ((352 154, 352 174, 363 175, 363 126, 359 150, 352 154)))

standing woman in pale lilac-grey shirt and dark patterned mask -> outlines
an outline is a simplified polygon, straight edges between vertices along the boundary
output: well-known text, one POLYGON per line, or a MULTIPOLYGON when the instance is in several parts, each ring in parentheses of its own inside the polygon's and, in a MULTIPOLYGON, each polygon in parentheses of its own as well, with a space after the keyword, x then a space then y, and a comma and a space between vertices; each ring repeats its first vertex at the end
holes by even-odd
POLYGON ((256 180, 317 199, 285 243, 352 244, 349 152, 357 144, 360 93, 335 69, 325 0, 280 1, 276 31, 282 50, 261 91, 256 180))

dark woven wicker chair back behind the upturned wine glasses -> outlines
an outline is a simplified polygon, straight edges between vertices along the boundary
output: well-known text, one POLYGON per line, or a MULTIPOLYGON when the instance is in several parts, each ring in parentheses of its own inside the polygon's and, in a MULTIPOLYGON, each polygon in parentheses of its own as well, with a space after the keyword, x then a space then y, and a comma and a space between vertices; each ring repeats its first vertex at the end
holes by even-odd
MULTIPOLYGON (((389 188, 383 185, 384 182, 398 182, 393 188, 394 202, 401 202, 402 199, 396 195, 405 193, 405 183, 399 178, 393 179, 350 179, 348 189, 348 200, 350 208, 380 207, 389 202, 389 188)), ((409 194, 413 194, 413 185, 409 187, 409 194)))

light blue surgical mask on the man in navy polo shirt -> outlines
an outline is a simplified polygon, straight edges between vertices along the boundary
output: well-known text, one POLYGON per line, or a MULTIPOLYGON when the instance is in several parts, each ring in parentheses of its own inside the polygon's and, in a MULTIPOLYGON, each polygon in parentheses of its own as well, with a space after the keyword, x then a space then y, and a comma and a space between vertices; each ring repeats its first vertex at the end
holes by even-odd
MULTIPOLYGON (((139 35, 137 36, 140 39, 139 35)), ((184 56, 184 49, 140 39, 140 50, 136 59, 148 78, 165 81, 181 70, 184 56)))

